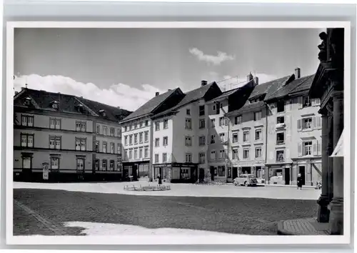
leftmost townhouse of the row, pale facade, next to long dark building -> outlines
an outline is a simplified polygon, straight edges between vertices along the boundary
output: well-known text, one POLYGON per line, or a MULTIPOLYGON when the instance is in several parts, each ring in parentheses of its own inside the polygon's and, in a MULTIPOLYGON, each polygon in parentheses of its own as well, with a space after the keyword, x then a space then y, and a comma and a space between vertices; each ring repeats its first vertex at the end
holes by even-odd
POLYGON ((121 121, 121 137, 124 143, 124 177, 150 177, 153 162, 154 125, 151 116, 176 105, 183 97, 181 89, 156 92, 146 102, 121 121))

